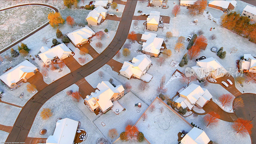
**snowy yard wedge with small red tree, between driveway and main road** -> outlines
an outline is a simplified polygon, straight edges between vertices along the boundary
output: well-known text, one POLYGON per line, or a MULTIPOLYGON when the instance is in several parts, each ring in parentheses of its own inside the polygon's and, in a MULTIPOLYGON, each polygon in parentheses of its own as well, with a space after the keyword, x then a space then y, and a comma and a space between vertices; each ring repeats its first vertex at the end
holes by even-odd
MULTIPOLYGON (((100 29, 101 30, 101 29, 100 29)), ((100 30, 98 30, 98 31, 100 31, 100 30)), ((95 32, 98 32, 98 31, 95 31, 95 32)), ((94 48, 94 50, 96 51, 96 52, 98 52, 98 53, 101 53, 101 52, 103 52, 106 48, 107 48, 107 46, 110 44, 110 42, 113 40, 113 38, 115 37, 115 35, 116 35, 116 31, 108 31, 108 35, 109 35, 109 37, 107 36, 107 34, 105 34, 104 35, 104 37, 103 38, 101 38, 101 40, 100 40, 100 38, 98 37, 98 36, 93 36, 92 37, 92 42, 90 43, 90 45, 94 48), (96 46, 96 44, 98 43, 98 42, 101 42, 102 43, 102 47, 101 48, 98 48, 97 46, 96 46)))

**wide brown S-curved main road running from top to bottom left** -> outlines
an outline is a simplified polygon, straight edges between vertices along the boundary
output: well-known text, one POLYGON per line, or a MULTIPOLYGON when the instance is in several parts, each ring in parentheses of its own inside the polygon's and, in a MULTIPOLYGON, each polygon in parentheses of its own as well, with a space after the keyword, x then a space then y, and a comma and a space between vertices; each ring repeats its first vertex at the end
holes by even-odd
POLYGON ((24 142, 37 112, 47 100, 78 80, 90 75, 115 56, 127 38, 136 4, 137 0, 127 1, 114 39, 97 58, 49 84, 47 87, 37 92, 25 104, 21 109, 6 142, 24 142))

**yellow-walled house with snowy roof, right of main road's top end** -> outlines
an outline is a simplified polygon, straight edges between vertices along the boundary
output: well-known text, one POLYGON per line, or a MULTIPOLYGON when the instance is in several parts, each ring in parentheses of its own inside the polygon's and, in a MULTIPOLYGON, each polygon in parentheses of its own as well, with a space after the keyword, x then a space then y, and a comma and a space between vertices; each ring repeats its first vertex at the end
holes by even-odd
POLYGON ((160 12, 151 11, 147 18, 147 29, 150 31, 157 31, 160 21, 160 12))

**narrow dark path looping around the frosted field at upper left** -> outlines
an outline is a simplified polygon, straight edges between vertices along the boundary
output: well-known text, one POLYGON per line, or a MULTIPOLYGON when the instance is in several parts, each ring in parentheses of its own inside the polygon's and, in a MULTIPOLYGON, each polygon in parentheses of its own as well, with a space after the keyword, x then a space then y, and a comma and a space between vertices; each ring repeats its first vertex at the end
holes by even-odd
MULTIPOLYGON (((59 12, 59 10, 56 8, 56 7, 53 7, 51 5, 47 5, 47 4, 20 4, 20 5, 15 5, 15 6, 12 6, 12 7, 8 7, 8 8, 5 8, 5 9, 2 9, 0 10, 1 11, 5 11, 5 10, 9 10, 9 9, 12 9, 12 8, 15 8, 15 7, 20 7, 20 6, 26 6, 26 5, 42 5, 42 6, 46 6, 46 7, 49 7, 51 9, 53 9, 55 12, 59 12)), ((24 39, 28 38, 29 36, 33 35, 34 33, 36 33, 37 31, 39 31, 40 29, 46 27, 47 25, 49 25, 49 22, 44 24, 43 26, 37 28, 36 30, 32 31, 31 33, 29 33, 27 36, 24 36, 22 37, 20 40, 18 40, 17 42, 9 45, 8 47, 6 47, 5 49, 1 50, 0 51, 0 54, 7 51, 8 49, 10 49, 11 47, 15 46, 16 44, 19 44, 20 42, 22 42, 24 39)))

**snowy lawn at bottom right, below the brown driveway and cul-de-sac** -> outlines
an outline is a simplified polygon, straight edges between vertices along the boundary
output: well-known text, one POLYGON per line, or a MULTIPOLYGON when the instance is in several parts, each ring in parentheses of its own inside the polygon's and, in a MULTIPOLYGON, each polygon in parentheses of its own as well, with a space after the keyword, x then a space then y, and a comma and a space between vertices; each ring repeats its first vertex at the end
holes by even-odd
POLYGON ((233 123, 220 120, 218 125, 213 127, 206 127, 204 124, 204 115, 198 115, 196 118, 192 115, 186 117, 185 119, 193 124, 199 126, 209 137, 210 140, 215 141, 216 143, 225 143, 225 144, 234 144, 234 143, 251 143, 250 135, 246 137, 241 137, 233 131, 231 125, 233 123))

